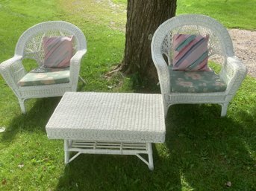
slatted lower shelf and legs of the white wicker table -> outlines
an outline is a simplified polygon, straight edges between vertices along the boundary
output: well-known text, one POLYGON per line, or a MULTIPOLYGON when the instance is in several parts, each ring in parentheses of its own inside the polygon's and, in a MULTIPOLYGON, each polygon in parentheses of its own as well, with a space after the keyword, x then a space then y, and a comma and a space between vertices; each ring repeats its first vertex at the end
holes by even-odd
POLYGON ((73 161, 80 154, 104 154, 104 155, 136 155, 154 169, 152 157, 152 143, 127 143, 127 142, 104 142, 86 140, 64 140, 65 164, 73 161), (77 152, 69 158, 70 152, 77 152), (148 161, 141 156, 148 155, 148 161))

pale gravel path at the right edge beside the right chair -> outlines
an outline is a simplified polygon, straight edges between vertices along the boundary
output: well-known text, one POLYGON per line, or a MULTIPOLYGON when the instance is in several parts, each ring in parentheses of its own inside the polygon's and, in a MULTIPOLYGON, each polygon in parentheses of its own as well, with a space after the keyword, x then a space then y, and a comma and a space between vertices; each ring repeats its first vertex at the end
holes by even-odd
POLYGON ((228 32, 236 56, 246 65, 248 74, 256 78, 256 31, 230 29, 228 32))

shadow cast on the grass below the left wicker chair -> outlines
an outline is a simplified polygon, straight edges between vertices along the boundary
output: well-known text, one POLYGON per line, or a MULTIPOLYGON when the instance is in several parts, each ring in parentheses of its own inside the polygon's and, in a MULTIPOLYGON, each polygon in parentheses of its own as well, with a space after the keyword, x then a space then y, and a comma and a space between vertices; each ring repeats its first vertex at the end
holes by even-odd
POLYGON ((19 132, 45 132, 46 123, 59 101, 60 97, 37 99, 31 109, 28 109, 28 105, 33 102, 33 100, 28 100, 28 103, 25 103, 27 113, 20 114, 11 120, 10 125, 1 136, 1 141, 10 142, 19 132))

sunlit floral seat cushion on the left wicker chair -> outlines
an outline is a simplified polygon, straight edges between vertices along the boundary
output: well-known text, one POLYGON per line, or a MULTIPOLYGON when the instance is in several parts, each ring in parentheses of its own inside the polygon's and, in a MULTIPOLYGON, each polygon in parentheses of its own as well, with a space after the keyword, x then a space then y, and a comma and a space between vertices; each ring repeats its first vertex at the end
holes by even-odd
POLYGON ((69 67, 45 68, 43 66, 30 71, 19 80, 20 86, 50 85, 69 82, 69 67))

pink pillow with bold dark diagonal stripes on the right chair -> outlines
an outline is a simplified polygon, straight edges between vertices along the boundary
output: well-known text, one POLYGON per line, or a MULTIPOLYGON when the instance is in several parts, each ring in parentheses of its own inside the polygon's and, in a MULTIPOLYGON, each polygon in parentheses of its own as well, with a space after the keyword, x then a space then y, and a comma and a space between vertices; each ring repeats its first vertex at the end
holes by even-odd
POLYGON ((209 36, 175 34, 172 48, 173 68, 178 71, 210 71, 207 66, 209 36))

